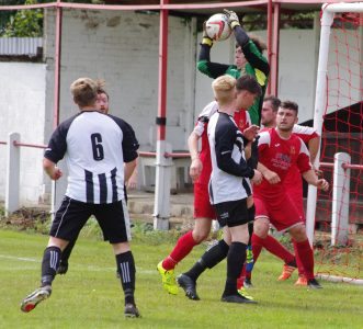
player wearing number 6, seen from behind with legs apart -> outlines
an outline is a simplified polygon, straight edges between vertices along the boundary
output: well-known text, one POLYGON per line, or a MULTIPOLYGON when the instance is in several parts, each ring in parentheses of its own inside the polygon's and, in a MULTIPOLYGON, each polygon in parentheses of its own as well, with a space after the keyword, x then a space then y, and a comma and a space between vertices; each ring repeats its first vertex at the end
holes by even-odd
POLYGON ((21 310, 29 313, 50 296, 63 250, 94 215, 104 238, 113 247, 125 295, 124 314, 138 317, 134 297, 135 261, 129 247, 124 193, 124 181, 135 168, 138 141, 126 122, 99 112, 98 84, 93 80, 80 78, 71 83, 70 90, 80 112, 56 128, 43 160, 49 178, 58 180, 63 173, 56 163, 65 157, 69 171, 67 191, 52 223, 43 256, 41 287, 23 299, 21 310))

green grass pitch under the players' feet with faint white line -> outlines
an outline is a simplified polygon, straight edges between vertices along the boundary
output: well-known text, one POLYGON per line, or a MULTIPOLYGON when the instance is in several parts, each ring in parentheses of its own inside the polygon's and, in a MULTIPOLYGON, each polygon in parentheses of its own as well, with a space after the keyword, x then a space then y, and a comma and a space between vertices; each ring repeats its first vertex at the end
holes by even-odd
MULTIPOLYGON (((151 235, 133 242, 137 268, 139 319, 125 319, 123 293, 115 279, 111 247, 80 238, 70 270, 56 277, 52 297, 32 313, 20 310, 22 298, 37 287, 47 237, 0 230, 0 328, 363 328, 363 288, 322 282, 324 290, 295 287, 294 277, 277 282, 281 262, 262 253, 250 294, 258 305, 220 303, 226 263, 205 272, 198 282, 200 302, 180 291, 161 288, 156 264, 172 248, 151 235)), ((204 251, 200 246, 177 268, 186 270, 204 251)))

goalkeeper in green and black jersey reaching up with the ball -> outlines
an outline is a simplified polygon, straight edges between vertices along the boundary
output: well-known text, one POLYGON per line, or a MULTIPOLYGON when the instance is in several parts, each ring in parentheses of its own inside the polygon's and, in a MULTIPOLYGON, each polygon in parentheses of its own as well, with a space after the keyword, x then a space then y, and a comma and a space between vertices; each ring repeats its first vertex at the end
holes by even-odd
MULTIPOLYGON (((265 44, 256 36, 249 36, 241 27, 239 19, 234 11, 224 10, 228 18, 228 23, 236 36, 235 65, 226 65, 211 61, 211 48, 213 41, 207 36, 205 29, 201 44, 197 69, 212 79, 223 75, 229 75, 236 79, 243 75, 256 78, 262 89, 261 97, 257 98, 252 106, 248 109, 252 124, 260 125, 261 109, 264 93, 268 86, 270 66, 266 58, 262 55, 266 49, 265 44)), ((247 109, 246 109, 247 110, 247 109)))

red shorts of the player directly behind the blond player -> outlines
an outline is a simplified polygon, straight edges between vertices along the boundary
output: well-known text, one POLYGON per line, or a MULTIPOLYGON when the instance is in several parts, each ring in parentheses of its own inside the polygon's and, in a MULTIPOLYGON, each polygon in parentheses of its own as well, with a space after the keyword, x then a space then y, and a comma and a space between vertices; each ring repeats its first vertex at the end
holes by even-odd
POLYGON ((216 212, 209 202, 207 184, 194 183, 194 218, 217 218, 216 212))

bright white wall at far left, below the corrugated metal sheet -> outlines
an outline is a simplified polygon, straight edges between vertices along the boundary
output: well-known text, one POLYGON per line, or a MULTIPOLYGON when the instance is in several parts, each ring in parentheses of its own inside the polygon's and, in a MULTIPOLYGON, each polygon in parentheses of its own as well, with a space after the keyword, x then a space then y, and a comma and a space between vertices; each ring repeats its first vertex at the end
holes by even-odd
MULTIPOLYGON (((0 140, 12 132, 23 143, 44 144, 45 65, 0 63, 0 140)), ((43 195, 43 149, 21 148, 20 202, 36 204, 43 195)), ((0 145, 0 200, 5 195, 7 148, 0 145)))

